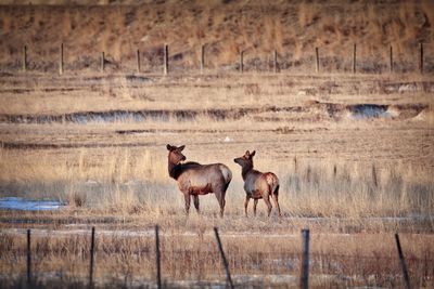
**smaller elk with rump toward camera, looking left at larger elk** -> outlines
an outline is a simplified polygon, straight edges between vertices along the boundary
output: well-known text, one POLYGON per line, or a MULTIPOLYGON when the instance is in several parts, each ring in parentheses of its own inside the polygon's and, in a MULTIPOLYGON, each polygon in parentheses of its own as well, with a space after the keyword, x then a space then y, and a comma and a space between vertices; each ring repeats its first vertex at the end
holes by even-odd
POLYGON ((241 175, 244 180, 245 201, 244 211, 247 216, 247 207, 251 198, 254 200, 253 212, 256 215, 256 206, 258 199, 264 199, 268 208, 268 216, 271 213, 271 201, 270 197, 275 201, 275 206, 278 209, 279 215, 281 216, 279 207, 279 179, 272 172, 259 172, 253 169, 253 157, 256 152, 252 154, 247 150, 244 156, 233 159, 234 162, 241 166, 241 175))

